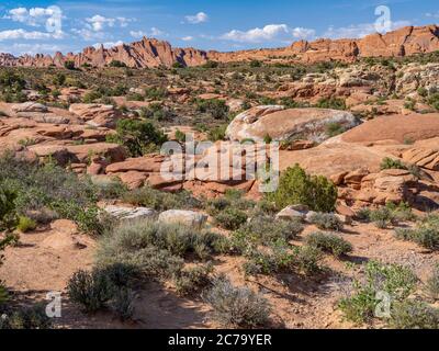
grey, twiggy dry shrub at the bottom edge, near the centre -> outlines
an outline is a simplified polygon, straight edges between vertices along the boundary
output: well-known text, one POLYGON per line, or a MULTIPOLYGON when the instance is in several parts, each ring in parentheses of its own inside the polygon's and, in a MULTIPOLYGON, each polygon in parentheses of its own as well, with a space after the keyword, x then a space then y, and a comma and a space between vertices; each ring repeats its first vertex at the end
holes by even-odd
POLYGON ((248 287, 236 287, 219 278, 204 294, 213 308, 213 317, 225 327, 258 327, 268 322, 270 306, 266 298, 248 287))

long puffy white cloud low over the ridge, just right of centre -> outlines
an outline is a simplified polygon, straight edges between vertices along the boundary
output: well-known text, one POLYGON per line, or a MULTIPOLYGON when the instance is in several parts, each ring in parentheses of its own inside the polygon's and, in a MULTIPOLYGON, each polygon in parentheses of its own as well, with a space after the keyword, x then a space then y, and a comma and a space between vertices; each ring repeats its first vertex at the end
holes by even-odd
POLYGON ((268 24, 263 29, 257 27, 246 32, 233 30, 222 35, 221 38, 239 43, 261 43, 279 39, 312 38, 315 36, 315 33, 311 29, 292 29, 286 24, 268 24))

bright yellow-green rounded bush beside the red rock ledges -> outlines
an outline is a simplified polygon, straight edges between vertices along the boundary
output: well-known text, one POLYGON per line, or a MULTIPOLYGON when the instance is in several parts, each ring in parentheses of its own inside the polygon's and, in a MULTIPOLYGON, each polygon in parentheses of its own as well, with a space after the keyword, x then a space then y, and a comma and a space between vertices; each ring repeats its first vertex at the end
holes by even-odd
POLYGON ((302 204, 316 212, 333 212, 337 186, 325 177, 312 177, 299 166, 286 169, 280 177, 278 190, 268 194, 279 208, 302 204))

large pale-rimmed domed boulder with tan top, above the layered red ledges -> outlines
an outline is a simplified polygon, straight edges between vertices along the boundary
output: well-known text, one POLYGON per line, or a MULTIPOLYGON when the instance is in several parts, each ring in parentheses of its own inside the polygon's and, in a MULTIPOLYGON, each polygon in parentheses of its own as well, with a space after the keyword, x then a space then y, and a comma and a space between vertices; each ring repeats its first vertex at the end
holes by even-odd
POLYGON ((351 113, 345 111, 257 106, 237 115, 227 127, 226 136, 237 141, 262 141, 269 135, 273 140, 301 137, 320 143, 328 138, 326 127, 329 123, 337 123, 346 129, 359 124, 351 113))

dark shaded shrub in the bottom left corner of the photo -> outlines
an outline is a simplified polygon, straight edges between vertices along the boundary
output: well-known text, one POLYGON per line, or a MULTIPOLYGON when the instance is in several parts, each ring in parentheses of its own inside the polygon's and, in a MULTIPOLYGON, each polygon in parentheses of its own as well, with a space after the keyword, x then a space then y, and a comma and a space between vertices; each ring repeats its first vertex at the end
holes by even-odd
POLYGON ((1 329, 50 329, 52 321, 44 305, 22 307, 0 318, 1 329))

